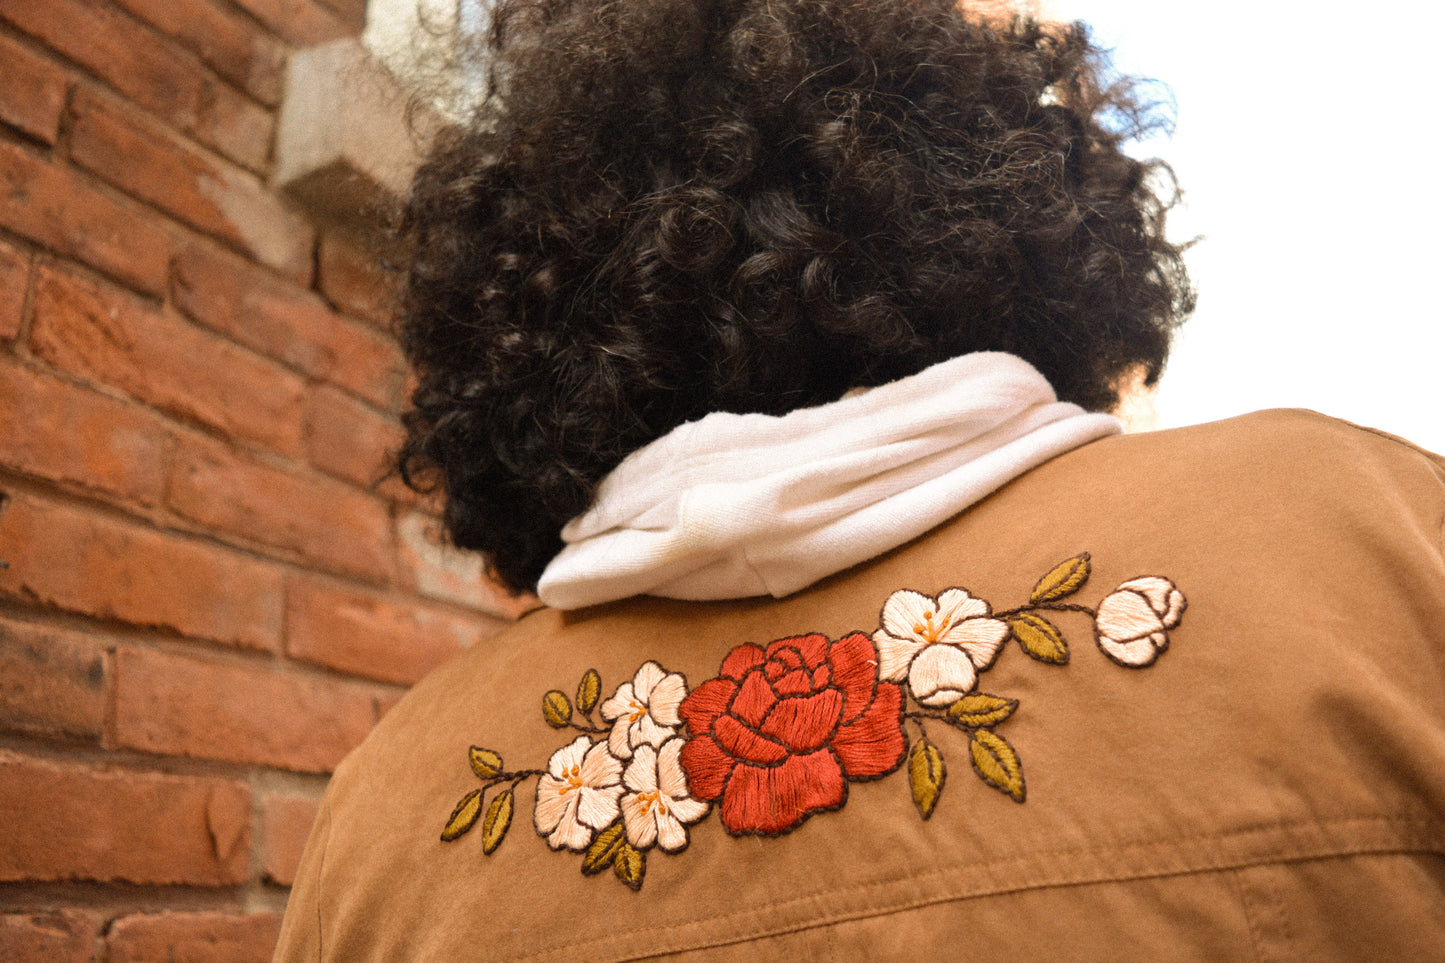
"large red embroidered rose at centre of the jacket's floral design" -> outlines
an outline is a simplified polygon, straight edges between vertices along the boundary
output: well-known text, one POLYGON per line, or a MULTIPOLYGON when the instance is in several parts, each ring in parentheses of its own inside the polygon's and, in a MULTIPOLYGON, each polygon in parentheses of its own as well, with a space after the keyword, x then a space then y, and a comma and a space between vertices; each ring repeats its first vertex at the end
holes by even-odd
POLYGON ((786 833, 835 810, 848 779, 892 772, 903 759, 903 694, 880 682, 861 632, 740 645, 720 677, 682 700, 692 739, 682 748, 688 789, 717 800, 733 834, 786 833))

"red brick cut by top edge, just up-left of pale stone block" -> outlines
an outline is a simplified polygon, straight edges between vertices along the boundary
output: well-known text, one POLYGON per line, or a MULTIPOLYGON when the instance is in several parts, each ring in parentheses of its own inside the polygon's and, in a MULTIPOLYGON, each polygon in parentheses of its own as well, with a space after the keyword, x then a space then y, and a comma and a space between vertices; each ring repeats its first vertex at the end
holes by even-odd
POLYGON ((263 104, 282 94, 286 48, 215 0, 117 0, 263 104))

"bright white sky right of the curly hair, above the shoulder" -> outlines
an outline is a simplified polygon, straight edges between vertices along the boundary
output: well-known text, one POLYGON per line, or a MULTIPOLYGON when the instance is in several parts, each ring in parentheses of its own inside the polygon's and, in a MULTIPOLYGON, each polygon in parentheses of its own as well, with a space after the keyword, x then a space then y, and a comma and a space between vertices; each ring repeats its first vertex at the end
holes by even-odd
POLYGON ((1445 7, 1051 6, 1178 103, 1146 152, 1186 192, 1170 233, 1204 240, 1162 427, 1314 408, 1445 451, 1445 7))

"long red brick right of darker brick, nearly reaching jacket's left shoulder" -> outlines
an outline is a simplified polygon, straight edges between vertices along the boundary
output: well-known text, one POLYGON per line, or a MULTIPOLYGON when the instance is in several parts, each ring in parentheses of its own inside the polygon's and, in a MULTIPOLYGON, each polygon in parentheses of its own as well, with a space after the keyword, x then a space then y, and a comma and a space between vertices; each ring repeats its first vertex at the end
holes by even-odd
POLYGON ((116 654, 116 743, 165 755, 331 772, 374 722, 373 693, 270 664, 116 654))

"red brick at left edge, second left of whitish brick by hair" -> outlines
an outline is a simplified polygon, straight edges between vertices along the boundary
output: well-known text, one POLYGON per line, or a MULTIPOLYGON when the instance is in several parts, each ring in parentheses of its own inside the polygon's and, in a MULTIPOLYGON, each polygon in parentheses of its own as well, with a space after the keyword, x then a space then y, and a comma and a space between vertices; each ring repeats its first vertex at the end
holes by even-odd
POLYGON ((155 505, 168 437, 146 411, 0 359, 0 463, 9 468, 155 505))

